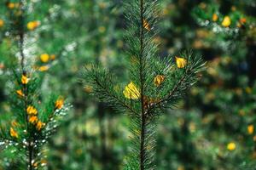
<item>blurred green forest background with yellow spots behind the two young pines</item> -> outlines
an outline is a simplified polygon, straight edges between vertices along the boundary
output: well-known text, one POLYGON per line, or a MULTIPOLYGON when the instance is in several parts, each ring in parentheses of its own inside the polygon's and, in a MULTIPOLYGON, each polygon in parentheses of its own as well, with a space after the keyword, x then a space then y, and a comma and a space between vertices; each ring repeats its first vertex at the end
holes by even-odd
MULTIPOLYGON (((18 60, 15 41, 9 37, 9 16, 15 7, 8 3, 19 1, 0 2, 2 120, 13 114, 8 100, 13 93, 9 75, 18 60)), ((93 99, 92 89, 83 87, 78 75, 84 65, 98 63, 125 82, 123 2, 26 3, 26 23, 40 22, 27 31, 27 65, 41 68, 44 96, 62 94, 73 105, 44 148, 46 169, 122 169, 130 150, 129 118, 93 99), (54 58, 45 62, 42 54, 54 58)), ((154 38, 160 42, 160 57, 175 57, 193 49, 207 61, 207 71, 176 109, 160 116, 156 169, 256 169, 256 2, 161 0, 160 7, 156 26, 160 33, 154 38)), ((0 150, 1 170, 13 169, 11 165, 18 161, 10 150, 0 150)))

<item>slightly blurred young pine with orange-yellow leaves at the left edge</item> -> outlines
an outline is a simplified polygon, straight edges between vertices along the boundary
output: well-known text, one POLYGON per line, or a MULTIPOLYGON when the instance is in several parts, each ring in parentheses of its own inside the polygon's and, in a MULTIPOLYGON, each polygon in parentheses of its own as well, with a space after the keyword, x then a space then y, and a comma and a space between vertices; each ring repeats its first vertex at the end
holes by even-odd
MULTIPOLYGON (((40 85, 43 82, 38 70, 29 65, 29 54, 26 48, 29 44, 31 32, 39 26, 38 20, 27 20, 27 8, 30 3, 21 0, 19 3, 6 3, 9 8, 10 28, 4 35, 9 35, 11 41, 17 45, 17 63, 13 63, 11 80, 10 105, 12 108, 11 120, 8 124, 1 123, 0 144, 15 153, 17 164, 10 168, 40 169, 46 165, 44 144, 50 135, 55 132, 60 116, 67 112, 64 99, 52 95, 49 99, 42 99, 40 85), (8 32, 8 34, 7 34, 8 32)), ((49 56, 42 56, 41 60, 49 56)), ((39 69, 39 71, 41 71, 39 69)))

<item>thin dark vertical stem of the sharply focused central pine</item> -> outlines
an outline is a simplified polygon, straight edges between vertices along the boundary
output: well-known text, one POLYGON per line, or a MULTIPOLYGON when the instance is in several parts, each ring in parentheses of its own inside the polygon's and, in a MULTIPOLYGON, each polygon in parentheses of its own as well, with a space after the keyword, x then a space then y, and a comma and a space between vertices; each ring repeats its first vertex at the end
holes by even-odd
POLYGON ((144 170, 145 166, 144 166, 144 161, 145 161, 145 125, 146 125, 146 114, 145 114, 145 110, 144 110, 144 75, 143 75, 143 40, 144 40, 144 27, 143 27, 143 0, 140 0, 140 19, 141 19, 141 27, 140 27, 140 82, 141 82, 141 138, 140 138, 140 169, 144 170))

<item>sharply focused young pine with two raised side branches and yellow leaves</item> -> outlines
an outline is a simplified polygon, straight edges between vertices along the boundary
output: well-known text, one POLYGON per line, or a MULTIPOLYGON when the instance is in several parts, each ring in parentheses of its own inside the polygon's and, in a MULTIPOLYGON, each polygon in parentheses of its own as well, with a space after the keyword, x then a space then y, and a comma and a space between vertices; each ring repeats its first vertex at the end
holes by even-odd
POLYGON ((81 79, 93 87, 96 98, 131 118, 132 151, 125 169, 154 169, 156 118, 163 110, 173 108, 198 81, 204 62, 191 52, 175 59, 158 57, 158 44, 154 43, 157 0, 129 1, 125 11, 130 81, 125 87, 120 86, 118 79, 100 65, 86 67, 81 79))

